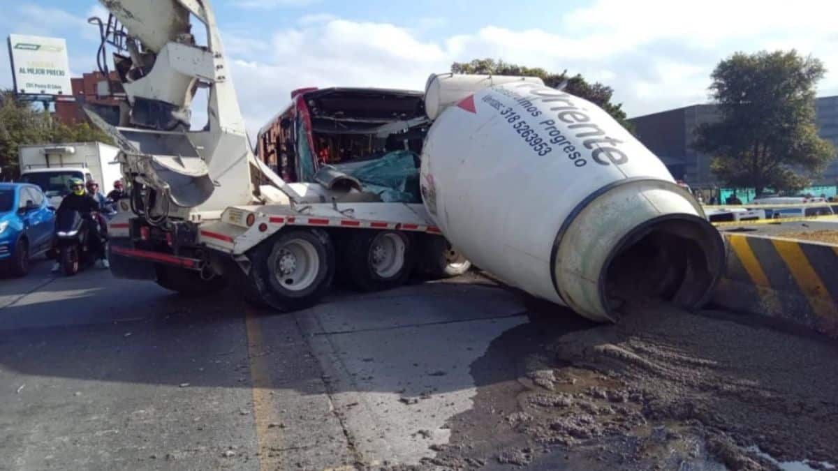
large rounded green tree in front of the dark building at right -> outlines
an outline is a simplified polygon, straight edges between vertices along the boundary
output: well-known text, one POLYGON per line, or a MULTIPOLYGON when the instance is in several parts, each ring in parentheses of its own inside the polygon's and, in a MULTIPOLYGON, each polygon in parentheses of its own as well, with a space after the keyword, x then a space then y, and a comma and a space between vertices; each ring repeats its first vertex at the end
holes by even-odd
POLYGON ((818 137, 815 84, 820 60, 797 51, 736 53, 713 70, 711 96, 721 121, 697 130, 693 147, 732 187, 793 191, 823 172, 835 149, 818 137))

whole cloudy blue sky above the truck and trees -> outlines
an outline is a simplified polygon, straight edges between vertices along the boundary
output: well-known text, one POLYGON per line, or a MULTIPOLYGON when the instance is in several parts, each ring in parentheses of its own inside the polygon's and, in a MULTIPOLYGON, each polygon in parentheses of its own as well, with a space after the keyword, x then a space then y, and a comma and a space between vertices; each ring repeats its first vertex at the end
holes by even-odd
MULTIPOLYGON (((614 89, 629 116, 707 100, 708 75, 737 50, 798 49, 825 62, 838 95, 838 2, 822 0, 215 0, 251 132, 302 86, 422 89, 454 60, 501 58, 569 70, 614 89), (789 8, 793 5, 794 8, 789 8)), ((0 36, 67 39, 73 73, 93 70, 104 9, 93 0, 6 3, 0 36)), ((11 86, 0 54, 0 87, 11 86)))

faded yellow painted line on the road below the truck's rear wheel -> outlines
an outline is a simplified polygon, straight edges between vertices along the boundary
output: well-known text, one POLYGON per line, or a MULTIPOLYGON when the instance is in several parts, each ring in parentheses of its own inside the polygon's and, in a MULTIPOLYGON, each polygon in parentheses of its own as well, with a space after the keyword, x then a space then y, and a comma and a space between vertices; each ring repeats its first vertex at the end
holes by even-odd
POLYGON ((278 453, 272 450, 281 448, 281 427, 276 407, 272 406, 273 384, 270 368, 267 362, 264 336, 261 330, 261 319, 253 308, 245 308, 245 326, 247 331, 247 356, 251 367, 251 384, 253 391, 253 416, 256 423, 256 443, 259 457, 259 469, 267 471, 278 469, 278 453))

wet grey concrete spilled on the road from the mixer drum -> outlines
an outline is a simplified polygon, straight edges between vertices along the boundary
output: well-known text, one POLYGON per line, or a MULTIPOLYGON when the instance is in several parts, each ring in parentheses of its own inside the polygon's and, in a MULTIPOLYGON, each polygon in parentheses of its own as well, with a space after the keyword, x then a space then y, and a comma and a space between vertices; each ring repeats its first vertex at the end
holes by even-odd
POLYGON ((829 340, 653 303, 614 325, 539 310, 473 363, 474 407, 421 468, 838 464, 829 340), (507 368, 517 380, 500 380, 507 368))

